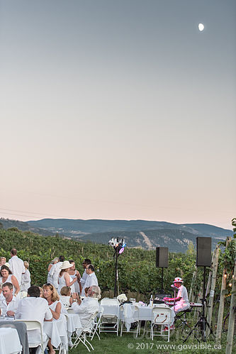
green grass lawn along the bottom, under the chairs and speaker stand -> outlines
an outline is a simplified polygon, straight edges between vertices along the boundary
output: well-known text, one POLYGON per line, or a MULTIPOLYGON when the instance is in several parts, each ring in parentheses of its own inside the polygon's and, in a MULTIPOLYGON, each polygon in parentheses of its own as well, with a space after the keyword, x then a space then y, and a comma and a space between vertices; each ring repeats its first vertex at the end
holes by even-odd
MULTIPOLYGON (((222 343, 220 347, 215 347, 215 341, 208 338, 206 343, 198 343, 196 339, 191 336, 186 343, 183 343, 179 338, 179 333, 172 334, 169 343, 163 337, 154 337, 152 341, 150 336, 140 336, 135 338, 133 333, 124 333, 122 337, 116 336, 116 333, 101 333, 101 341, 94 336, 94 340, 91 342, 94 346, 94 352, 92 353, 116 353, 116 354, 137 354, 137 353, 161 353, 161 354, 175 354, 175 353, 213 353, 217 354, 225 353, 227 333, 223 333, 222 343), (195 347, 194 347, 195 345, 195 347)), ((69 354, 84 354, 89 353, 82 343, 79 343, 76 349, 69 350, 69 354)), ((232 353, 236 353, 235 348, 232 349, 232 353)))

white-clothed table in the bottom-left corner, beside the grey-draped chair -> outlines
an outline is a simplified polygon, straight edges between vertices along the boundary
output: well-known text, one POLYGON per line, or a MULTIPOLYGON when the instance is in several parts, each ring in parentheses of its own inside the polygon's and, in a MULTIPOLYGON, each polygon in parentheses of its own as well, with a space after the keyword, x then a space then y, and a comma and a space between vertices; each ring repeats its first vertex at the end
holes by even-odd
POLYGON ((0 328, 0 353, 21 353, 21 342, 15 328, 0 328))

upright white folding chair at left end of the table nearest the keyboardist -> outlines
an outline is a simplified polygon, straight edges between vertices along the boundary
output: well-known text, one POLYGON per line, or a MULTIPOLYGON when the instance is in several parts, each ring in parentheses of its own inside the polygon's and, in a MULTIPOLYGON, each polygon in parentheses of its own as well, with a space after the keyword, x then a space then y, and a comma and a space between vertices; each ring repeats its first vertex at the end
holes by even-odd
POLYGON ((116 332, 118 336, 119 304, 117 299, 101 300, 101 306, 104 306, 104 310, 99 324, 99 334, 101 332, 116 332))

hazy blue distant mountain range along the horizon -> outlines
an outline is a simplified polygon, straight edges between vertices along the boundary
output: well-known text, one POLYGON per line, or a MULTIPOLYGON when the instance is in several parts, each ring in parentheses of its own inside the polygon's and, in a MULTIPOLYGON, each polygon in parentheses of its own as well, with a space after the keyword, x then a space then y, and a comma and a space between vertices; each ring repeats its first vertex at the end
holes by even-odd
POLYGON ((16 227, 22 231, 32 231, 43 236, 55 235, 74 240, 94 243, 108 243, 111 238, 125 238, 128 247, 153 249, 168 247, 170 252, 185 252, 189 242, 196 244, 196 237, 211 237, 213 248, 220 240, 232 236, 225 228, 206 223, 167 223, 145 220, 81 220, 81 219, 42 219, 37 221, 14 221, 0 219, 4 228, 16 227))

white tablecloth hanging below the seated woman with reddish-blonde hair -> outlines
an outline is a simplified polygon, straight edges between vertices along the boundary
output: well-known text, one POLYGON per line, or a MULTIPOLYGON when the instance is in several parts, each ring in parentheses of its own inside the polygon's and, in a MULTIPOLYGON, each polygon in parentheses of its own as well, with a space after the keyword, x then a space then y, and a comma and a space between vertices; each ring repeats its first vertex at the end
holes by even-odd
POLYGON ((51 339, 51 343, 55 348, 58 348, 62 343, 62 352, 66 353, 68 346, 67 339, 67 321, 65 316, 60 319, 43 322, 43 332, 51 339))

